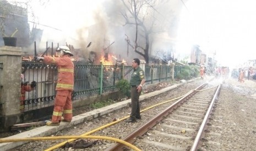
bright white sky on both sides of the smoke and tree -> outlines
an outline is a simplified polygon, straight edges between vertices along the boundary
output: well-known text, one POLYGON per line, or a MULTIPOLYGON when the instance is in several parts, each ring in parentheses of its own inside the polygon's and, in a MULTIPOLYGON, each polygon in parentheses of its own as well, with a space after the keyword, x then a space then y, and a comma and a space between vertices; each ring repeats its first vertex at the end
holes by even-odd
MULTIPOLYGON (((172 1, 180 3, 180 0, 172 1)), ((83 32, 81 36, 86 40, 87 33, 81 31, 81 27, 93 25, 96 22, 95 15, 108 20, 102 6, 104 0, 42 2, 45 1, 30 2, 35 21, 39 23, 37 27, 44 30, 42 41, 51 41, 53 38, 57 41, 63 37, 76 41, 80 38, 77 37, 78 32, 83 32)), ((214 57, 221 66, 236 66, 246 60, 256 59, 255 3, 254 0, 188 0, 179 15, 176 53, 190 56, 192 45, 197 44, 203 53, 214 57)), ((160 41, 170 39, 166 37, 167 40, 160 41)))

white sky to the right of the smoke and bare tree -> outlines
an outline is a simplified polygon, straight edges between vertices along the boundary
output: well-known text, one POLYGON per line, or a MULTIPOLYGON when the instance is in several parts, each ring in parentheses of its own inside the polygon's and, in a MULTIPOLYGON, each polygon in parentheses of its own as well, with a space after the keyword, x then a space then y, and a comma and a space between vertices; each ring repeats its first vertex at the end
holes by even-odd
POLYGON ((189 0, 179 22, 177 50, 193 44, 221 66, 256 59, 256 9, 253 0, 189 0))

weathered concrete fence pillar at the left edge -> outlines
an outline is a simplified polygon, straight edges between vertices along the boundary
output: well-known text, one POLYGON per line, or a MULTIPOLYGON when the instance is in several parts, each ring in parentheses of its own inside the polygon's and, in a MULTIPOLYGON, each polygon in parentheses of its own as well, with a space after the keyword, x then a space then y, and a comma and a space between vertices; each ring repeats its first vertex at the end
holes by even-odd
POLYGON ((0 47, 0 120, 8 127, 20 120, 20 47, 0 47))

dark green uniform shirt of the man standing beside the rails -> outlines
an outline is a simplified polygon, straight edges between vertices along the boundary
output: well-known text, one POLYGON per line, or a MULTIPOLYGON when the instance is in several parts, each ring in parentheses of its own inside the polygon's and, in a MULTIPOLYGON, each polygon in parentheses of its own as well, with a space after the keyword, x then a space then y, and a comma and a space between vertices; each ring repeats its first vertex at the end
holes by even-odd
POLYGON ((130 77, 130 85, 140 85, 142 79, 145 78, 144 71, 140 67, 133 70, 132 77, 130 77))

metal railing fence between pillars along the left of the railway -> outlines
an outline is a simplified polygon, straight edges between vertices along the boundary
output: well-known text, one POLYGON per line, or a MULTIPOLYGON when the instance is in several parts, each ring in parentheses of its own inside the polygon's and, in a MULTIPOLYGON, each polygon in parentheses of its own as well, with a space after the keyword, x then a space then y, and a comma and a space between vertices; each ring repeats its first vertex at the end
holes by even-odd
MULTIPOLYGON (((124 65, 85 65, 74 62, 73 101, 88 96, 117 91, 116 83, 120 79, 130 80, 132 66, 124 65)), ((170 80, 171 66, 144 65, 146 84, 170 80)), ((42 62, 22 62, 23 81, 35 81, 34 90, 26 92, 25 110, 52 106, 56 95, 57 66, 42 62)))

